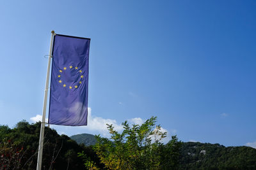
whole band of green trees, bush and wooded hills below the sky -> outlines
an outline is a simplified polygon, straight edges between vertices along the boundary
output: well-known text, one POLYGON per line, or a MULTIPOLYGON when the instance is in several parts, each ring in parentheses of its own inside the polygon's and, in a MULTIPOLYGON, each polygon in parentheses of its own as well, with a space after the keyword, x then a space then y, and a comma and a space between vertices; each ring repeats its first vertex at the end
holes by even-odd
MULTIPOLYGON (((122 125, 121 133, 108 125, 110 140, 76 135, 79 145, 45 127, 42 169, 256 169, 255 148, 181 143, 177 136, 164 145, 166 133, 156 117, 142 125, 122 125)), ((36 169, 39 134, 40 122, 22 121, 13 129, 0 125, 0 169, 36 169)))

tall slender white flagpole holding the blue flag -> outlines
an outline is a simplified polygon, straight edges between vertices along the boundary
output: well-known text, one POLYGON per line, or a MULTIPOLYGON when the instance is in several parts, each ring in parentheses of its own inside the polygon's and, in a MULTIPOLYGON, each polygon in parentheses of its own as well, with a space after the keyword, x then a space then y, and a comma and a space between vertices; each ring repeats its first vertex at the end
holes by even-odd
POLYGON ((47 105, 47 95, 48 95, 48 86, 49 86, 49 74, 51 69, 51 58, 52 58, 52 42, 54 38, 54 31, 51 32, 51 44, 49 50, 49 59, 48 59, 48 67, 46 74, 46 82, 45 82, 45 90, 44 90, 44 106, 43 106, 43 116, 41 122, 41 130, 40 130, 40 139, 38 146, 38 157, 37 157, 37 165, 36 170, 41 170, 42 168, 42 155, 43 155, 43 147, 44 147, 44 128, 45 128, 45 114, 46 114, 46 105, 47 105))

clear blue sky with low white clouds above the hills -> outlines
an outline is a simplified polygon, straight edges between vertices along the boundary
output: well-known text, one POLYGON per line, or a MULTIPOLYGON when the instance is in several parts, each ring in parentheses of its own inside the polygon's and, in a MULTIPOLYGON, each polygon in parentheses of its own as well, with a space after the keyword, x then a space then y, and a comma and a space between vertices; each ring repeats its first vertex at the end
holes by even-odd
POLYGON ((87 127, 151 116, 182 141, 256 147, 255 1, 1 1, 0 124, 42 115, 51 30, 91 38, 87 127), (36 116, 37 115, 37 116, 36 116))

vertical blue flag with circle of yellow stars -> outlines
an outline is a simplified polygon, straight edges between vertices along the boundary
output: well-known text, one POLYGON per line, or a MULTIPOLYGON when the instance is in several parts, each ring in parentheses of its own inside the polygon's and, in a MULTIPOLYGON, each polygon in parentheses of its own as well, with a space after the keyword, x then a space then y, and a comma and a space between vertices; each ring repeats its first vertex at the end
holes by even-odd
POLYGON ((54 36, 49 124, 87 125, 90 39, 54 36))

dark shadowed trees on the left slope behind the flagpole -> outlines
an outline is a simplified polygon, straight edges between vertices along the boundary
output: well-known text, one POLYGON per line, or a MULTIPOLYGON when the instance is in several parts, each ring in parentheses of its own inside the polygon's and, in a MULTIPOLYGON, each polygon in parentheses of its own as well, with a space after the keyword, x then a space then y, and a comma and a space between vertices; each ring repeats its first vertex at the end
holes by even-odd
MULTIPOLYGON (((36 169, 40 125, 24 120, 13 129, 0 125, 0 169, 36 169)), ((92 148, 77 145, 68 136, 45 127, 42 169, 86 169, 83 159, 77 158, 78 152, 99 162, 92 148)))

